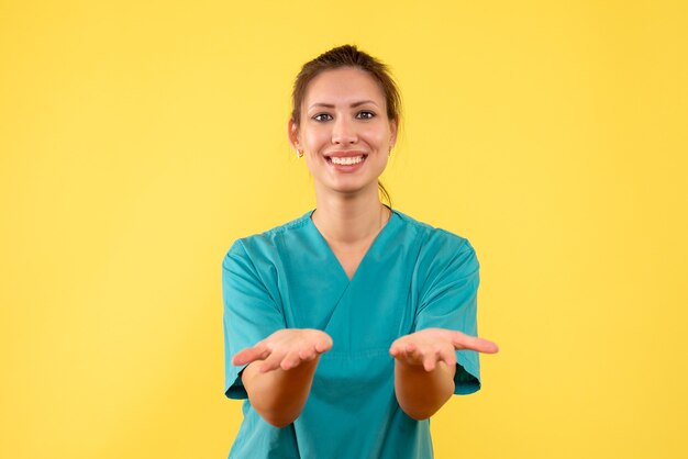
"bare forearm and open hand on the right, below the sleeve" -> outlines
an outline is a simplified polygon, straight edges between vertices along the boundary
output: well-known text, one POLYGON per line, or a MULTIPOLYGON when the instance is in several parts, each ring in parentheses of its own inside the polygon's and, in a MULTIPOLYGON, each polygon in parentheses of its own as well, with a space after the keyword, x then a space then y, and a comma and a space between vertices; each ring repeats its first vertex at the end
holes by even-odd
POLYGON ((454 393, 457 349, 495 354, 497 345, 460 332, 426 328, 402 336, 389 350, 395 357, 395 392, 412 418, 425 419, 454 393))

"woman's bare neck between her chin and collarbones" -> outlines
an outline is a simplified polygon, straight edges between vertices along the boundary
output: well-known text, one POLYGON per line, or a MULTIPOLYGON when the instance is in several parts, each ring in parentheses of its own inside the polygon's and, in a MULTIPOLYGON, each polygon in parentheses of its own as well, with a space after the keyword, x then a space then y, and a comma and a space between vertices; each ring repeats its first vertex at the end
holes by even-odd
POLYGON ((375 237, 390 217, 390 211, 375 193, 357 195, 317 193, 312 220, 330 244, 355 246, 375 237))

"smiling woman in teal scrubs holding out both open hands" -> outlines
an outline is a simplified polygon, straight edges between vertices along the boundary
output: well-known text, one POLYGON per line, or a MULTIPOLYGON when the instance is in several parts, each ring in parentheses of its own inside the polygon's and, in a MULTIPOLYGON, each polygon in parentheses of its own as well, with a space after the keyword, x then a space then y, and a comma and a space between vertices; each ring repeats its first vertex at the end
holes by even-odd
POLYGON ((230 458, 430 458, 429 417, 480 388, 473 247, 379 199, 399 100, 354 46, 297 77, 317 208, 224 258, 225 393, 247 398, 230 458))

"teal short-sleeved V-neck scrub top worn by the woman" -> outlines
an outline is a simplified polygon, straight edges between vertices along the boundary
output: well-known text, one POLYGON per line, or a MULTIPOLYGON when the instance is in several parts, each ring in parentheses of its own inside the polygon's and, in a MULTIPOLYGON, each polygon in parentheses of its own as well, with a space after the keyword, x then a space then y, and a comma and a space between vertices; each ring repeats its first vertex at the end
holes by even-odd
MULTIPOLYGON (((222 264, 225 394, 246 399, 230 458, 432 458, 430 422, 395 396, 391 343, 428 327, 477 335, 478 260, 467 239, 393 210, 349 281, 313 211, 237 239, 222 264), (277 428, 252 407, 232 356, 281 328, 333 339, 300 416, 277 428)), ((456 352, 456 394, 480 389, 478 354, 456 352)))

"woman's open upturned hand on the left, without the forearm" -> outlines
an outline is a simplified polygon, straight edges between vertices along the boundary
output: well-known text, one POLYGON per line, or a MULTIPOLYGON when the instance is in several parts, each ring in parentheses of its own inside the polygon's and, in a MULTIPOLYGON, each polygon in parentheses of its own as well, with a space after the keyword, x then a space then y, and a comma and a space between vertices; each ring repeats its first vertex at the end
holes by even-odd
POLYGON ((232 365, 242 366, 263 360, 258 371, 290 370, 311 361, 332 348, 332 338, 314 328, 284 328, 273 333, 253 347, 242 349, 232 358, 232 365))

